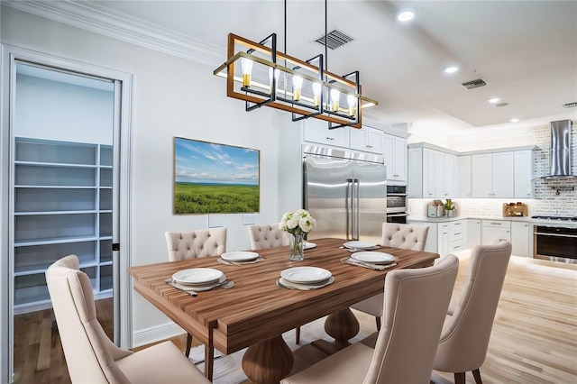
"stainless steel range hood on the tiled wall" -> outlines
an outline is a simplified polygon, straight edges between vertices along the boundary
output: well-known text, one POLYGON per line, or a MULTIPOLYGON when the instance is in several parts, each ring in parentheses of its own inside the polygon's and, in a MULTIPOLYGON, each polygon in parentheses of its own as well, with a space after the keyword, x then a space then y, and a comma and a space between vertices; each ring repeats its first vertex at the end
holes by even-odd
POLYGON ((543 179, 577 178, 571 173, 571 120, 551 122, 549 175, 543 179))

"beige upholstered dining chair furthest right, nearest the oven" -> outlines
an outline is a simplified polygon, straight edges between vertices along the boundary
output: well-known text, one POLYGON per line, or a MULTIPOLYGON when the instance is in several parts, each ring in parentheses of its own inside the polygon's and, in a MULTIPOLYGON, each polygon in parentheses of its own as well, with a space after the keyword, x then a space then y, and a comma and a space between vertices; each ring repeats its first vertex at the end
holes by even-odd
POLYGON ((489 347, 510 256, 507 240, 477 245, 471 251, 467 280, 459 301, 448 310, 433 363, 434 370, 453 372, 455 384, 464 384, 469 370, 477 384, 482 382, 479 369, 489 347))

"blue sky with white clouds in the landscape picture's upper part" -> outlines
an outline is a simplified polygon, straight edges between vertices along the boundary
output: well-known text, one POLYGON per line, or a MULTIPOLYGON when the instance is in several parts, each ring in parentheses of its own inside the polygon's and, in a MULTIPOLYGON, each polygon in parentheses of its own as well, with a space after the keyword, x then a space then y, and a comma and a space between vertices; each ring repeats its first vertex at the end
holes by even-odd
POLYGON ((175 138, 177 183, 259 184, 259 151, 175 138))

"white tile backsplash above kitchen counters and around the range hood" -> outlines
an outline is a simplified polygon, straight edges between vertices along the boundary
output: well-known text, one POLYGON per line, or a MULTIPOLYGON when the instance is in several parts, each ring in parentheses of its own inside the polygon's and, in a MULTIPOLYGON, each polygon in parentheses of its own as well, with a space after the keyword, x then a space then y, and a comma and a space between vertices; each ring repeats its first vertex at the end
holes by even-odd
MULTIPOLYGON (((549 174, 549 146, 551 132, 549 125, 533 127, 535 144, 533 178, 549 174)), ((572 123, 572 174, 577 170, 577 121, 572 123)), ((454 198, 457 215, 470 217, 500 217, 503 203, 520 201, 527 204, 528 215, 577 216, 577 179, 534 181, 532 199, 516 198, 454 198), (557 192, 558 191, 558 192, 557 192)), ((444 201, 444 200, 443 200, 444 201)), ((426 206, 430 199, 408 199, 408 210, 413 216, 426 216, 426 206)))

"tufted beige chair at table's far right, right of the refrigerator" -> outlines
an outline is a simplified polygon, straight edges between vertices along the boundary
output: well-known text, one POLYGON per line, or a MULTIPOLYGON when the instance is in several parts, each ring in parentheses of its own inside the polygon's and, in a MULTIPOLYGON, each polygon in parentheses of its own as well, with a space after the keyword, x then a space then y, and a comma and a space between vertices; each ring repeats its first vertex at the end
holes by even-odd
MULTIPOLYGON (((383 223, 381 245, 404 250, 423 251, 428 232, 429 227, 425 225, 383 223)), ((380 330, 382 293, 362 300, 351 307, 365 314, 375 316, 377 330, 380 330)))

